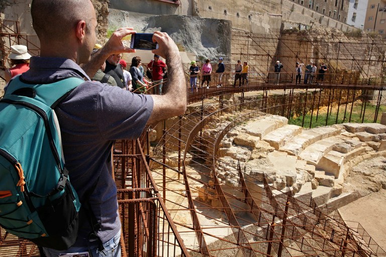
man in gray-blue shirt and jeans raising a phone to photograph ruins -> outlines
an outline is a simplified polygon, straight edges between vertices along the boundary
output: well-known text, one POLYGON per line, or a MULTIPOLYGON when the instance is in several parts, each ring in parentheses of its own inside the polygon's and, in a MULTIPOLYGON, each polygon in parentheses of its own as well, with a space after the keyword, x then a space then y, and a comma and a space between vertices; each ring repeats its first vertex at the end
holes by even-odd
MULTIPOLYGON (((76 239, 71 246, 63 249, 54 243, 43 247, 43 251, 48 257, 73 256, 78 252, 93 257, 121 256, 121 222, 117 187, 111 176, 111 149, 115 140, 138 138, 146 124, 185 112, 185 78, 178 47, 166 33, 154 32, 153 41, 159 48, 152 52, 170 60, 170 90, 164 95, 133 94, 90 80, 109 56, 135 52, 122 44, 124 37, 136 33, 132 28, 115 31, 90 60, 98 25, 90 0, 33 0, 31 15, 41 54, 31 58, 29 71, 11 80, 6 93, 20 85, 34 84, 47 87, 43 96, 49 97, 55 93, 58 83, 74 87, 54 110, 60 126, 65 168, 82 204, 80 212, 85 209, 86 213, 79 218, 76 239), (96 222, 93 227, 87 221, 90 215, 96 222)), ((30 146, 24 148, 30 149, 30 146)), ((22 171, 20 167, 19 171, 22 171)), ((22 177, 27 178, 27 173, 28 170, 24 170, 22 177)), ((23 183, 26 183, 24 190, 29 189, 29 181, 21 180, 18 185, 23 183)), ((41 235, 45 236, 50 235, 41 235)))

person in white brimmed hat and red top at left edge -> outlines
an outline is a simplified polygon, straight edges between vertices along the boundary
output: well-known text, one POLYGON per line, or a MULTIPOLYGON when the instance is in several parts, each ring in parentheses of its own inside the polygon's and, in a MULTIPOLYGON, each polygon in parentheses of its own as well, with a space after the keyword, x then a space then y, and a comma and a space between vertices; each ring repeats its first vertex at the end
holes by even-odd
POLYGON ((6 81, 10 81, 11 78, 18 74, 22 74, 30 69, 31 55, 27 52, 27 47, 23 45, 11 46, 10 62, 12 67, 6 70, 6 81))

